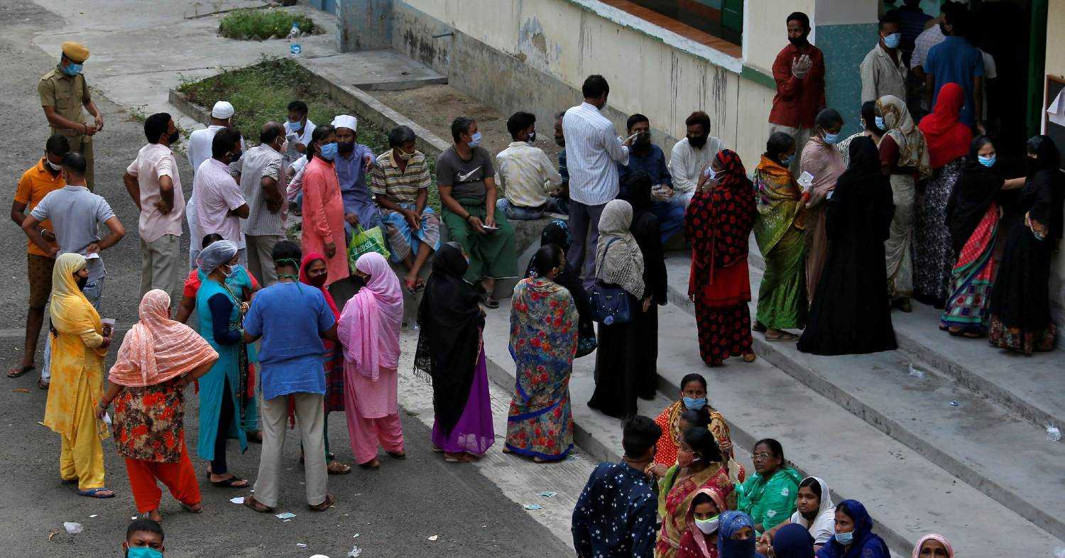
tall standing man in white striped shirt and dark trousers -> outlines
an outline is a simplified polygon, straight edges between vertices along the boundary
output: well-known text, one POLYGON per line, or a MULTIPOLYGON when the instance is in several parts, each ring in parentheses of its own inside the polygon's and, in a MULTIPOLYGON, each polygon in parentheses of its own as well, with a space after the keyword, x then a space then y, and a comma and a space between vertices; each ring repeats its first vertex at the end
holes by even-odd
POLYGON ((566 258, 586 283, 595 277, 595 244, 603 207, 618 197, 618 167, 628 164, 632 138, 618 138, 613 122, 600 111, 606 105, 610 85, 603 76, 592 75, 580 86, 585 102, 562 116, 566 164, 570 173, 570 232, 573 245, 566 258), (588 244, 591 245, 591 258, 588 244))

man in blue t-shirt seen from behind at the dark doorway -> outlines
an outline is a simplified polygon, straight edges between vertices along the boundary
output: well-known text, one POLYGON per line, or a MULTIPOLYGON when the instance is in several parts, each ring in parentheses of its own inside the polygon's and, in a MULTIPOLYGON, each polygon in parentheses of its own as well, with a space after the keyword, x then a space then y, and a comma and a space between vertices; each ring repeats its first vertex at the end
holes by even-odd
POLYGON ((924 61, 924 99, 934 111, 940 87, 951 82, 961 85, 965 91, 962 121, 979 133, 985 133, 984 124, 980 120, 984 108, 984 55, 965 38, 968 26, 968 12, 955 10, 946 13, 941 29, 947 38, 932 47, 924 61))

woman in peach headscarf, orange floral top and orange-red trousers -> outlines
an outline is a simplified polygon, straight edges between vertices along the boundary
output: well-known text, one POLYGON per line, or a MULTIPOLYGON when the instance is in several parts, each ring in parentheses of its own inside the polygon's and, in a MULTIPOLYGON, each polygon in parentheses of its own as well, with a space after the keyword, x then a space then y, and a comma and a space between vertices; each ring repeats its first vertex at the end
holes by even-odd
POLYGON ((137 511, 163 521, 159 503, 169 489, 181 507, 202 511, 196 471, 185 445, 189 382, 207 374, 218 354, 193 328, 170 319, 170 296, 153 289, 141 299, 141 321, 122 338, 96 415, 115 404, 115 442, 137 511))

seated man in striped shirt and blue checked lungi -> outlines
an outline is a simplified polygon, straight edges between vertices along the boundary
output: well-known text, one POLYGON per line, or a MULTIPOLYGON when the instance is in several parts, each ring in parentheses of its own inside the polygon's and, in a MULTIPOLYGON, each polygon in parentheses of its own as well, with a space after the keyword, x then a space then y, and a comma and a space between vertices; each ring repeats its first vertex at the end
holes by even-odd
POLYGON ((410 291, 425 284, 419 273, 440 248, 440 218, 426 204, 429 167, 425 155, 414 149, 414 131, 406 126, 389 132, 391 149, 377 158, 370 175, 370 192, 381 208, 392 261, 407 267, 404 283, 410 291))

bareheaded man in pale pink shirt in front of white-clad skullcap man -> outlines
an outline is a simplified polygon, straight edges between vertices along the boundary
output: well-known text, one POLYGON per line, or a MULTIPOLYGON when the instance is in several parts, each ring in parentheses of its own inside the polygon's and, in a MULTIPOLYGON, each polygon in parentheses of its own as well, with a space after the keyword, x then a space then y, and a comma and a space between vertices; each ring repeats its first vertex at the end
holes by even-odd
POLYGON ((218 130, 211 141, 211 159, 200 163, 193 179, 196 192, 196 220, 203 234, 222 234, 236 245, 241 264, 247 266, 241 219, 248 218, 249 208, 241 186, 229 174, 229 163, 241 149, 241 136, 228 128, 218 130))

